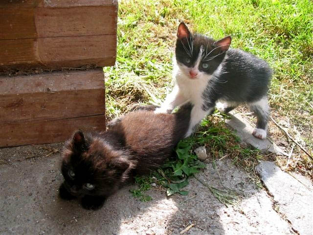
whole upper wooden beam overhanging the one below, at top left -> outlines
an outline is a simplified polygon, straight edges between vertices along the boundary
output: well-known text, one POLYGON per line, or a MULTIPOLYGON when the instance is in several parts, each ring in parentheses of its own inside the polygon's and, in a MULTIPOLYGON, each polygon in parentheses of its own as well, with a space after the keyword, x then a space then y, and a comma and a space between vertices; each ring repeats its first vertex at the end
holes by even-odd
POLYGON ((0 72, 112 66, 116 0, 2 0, 0 72))

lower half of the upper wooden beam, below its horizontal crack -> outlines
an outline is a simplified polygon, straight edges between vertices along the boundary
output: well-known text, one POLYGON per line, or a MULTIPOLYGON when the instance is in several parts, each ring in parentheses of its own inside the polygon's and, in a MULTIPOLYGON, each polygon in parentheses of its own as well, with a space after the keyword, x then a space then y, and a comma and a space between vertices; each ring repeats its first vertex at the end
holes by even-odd
POLYGON ((116 57, 115 35, 2 40, 0 43, 0 71, 104 67, 114 65, 116 57))

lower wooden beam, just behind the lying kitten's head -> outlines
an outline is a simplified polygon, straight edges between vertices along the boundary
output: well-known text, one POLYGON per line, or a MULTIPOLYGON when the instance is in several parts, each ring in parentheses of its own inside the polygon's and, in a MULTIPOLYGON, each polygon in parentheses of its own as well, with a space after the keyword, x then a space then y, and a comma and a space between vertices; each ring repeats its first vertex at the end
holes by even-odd
POLYGON ((0 77, 0 147, 64 141, 105 119, 102 69, 0 77))

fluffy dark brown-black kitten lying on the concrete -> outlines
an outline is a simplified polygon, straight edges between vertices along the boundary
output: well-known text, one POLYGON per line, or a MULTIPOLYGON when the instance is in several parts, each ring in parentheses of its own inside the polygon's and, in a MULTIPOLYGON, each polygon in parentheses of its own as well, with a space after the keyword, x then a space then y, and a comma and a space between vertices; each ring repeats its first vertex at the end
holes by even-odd
POLYGON ((80 197, 84 208, 100 208, 134 174, 148 173, 172 155, 187 132, 191 109, 187 104, 175 114, 138 110, 112 122, 104 133, 77 131, 62 153, 61 198, 80 197))

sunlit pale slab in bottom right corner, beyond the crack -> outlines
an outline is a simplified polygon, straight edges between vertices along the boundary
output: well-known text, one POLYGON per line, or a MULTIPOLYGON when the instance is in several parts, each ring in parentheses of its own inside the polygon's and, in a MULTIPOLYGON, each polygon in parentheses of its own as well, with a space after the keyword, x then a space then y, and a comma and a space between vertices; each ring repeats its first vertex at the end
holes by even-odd
POLYGON ((276 203, 276 208, 300 235, 313 234, 313 187, 301 175, 295 178, 275 163, 261 161, 256 167, 261 180, 276 203), (277 207, 278 206, 278 207, 277 207))

